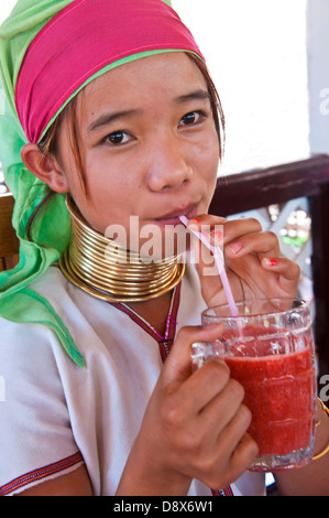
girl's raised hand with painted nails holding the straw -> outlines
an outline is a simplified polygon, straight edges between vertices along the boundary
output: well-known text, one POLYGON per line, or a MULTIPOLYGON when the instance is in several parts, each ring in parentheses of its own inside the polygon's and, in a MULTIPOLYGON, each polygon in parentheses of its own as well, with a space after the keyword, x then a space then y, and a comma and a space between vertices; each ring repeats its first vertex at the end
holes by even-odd
MULTIPOLYGON (((277 236, 271 231, 262 231, 256 219, 227 222, 220 217, 205 215, 190 219, 189 225, 199 230, 202 226, 208 228, 208 238, 223 249, 227 274, 237 301, 296 296, 300 273, 298 265, 281 257, 277 236)), ((204 245, 196 246, 197 257, 200 258, 197 267, 205 301, 208 306, 226 303, 221 280, 210 252, 204 245)))

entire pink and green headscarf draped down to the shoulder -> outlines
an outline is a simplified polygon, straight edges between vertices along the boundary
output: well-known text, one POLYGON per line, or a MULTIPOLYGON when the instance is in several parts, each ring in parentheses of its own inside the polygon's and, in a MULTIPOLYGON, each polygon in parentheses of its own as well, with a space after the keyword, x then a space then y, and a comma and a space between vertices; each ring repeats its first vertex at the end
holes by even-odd
POLYGON ((80 366, 84 358, 62 319, 30 288, 68 244, 65 195, 48 196, 50 187, 23 165, 21 149, 39 143, 90 80, 132 60, 177 51, 202 58, 167 0, 19 0, 0 28, 7 99, 0 115, 0 160, 15 198, 13 226, 20 239, 19 265, 0 274, 0 315, 48 326, 80 366))

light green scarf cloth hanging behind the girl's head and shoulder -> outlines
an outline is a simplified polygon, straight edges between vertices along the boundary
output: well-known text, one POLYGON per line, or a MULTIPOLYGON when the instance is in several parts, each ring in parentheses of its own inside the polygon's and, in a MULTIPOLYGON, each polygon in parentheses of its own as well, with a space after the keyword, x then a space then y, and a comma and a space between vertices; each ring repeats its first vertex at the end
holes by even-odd
MULTIPOLYGON (((21 149, 28 140, 14 105, 19 71, 31 42, 72 1, 19 0, 0 28, 0 73, 7 98, 4 114, 0 115, 0 160, 6 183, 15 198, 12 223, 20 240, 18 266, 0 273, 0 315, 17 323, 46 325, 72 359, 84 367, 84 358, 62 319, 45 298, 30 288, 68 245, 70 216, 65 195, 52 193, 50 196, 51 188, 22 163, 21 149), (28 223, 44 201, 28 235, 28 223)), ((169 0, 163 1, 171 6, 169 0)))

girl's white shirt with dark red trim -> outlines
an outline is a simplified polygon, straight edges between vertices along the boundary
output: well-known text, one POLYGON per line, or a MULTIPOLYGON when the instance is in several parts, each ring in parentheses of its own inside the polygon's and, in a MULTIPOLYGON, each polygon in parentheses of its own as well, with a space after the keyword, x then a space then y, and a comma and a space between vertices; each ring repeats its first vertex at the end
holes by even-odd
MULTIPOLYGON (((127 306, 83 292, 56 267, 31 288, 63 319, 86 368, 73 363, 46 326, 0 319, 6 387, 0 400, 0 495, 20 493, 81 463, 96 496, 114 495, 162 369, 155 332, 127 306)), ((184 325, 199 324, 205 309, 199 293, 197 274, 188 267, 179 304, 179 290, 173 300, 173 335, 184 325)), ((264 475, 246 472, 228 493, 264 490, 264 475)), ((189 495, 211 492, 194 481, 189 495)))

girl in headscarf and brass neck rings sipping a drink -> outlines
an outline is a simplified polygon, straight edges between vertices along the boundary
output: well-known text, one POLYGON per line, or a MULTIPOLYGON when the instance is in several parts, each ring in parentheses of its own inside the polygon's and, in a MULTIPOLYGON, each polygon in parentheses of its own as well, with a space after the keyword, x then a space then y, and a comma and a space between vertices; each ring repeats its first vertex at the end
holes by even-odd
POLYGON ((257 222, 207 214, 223 118, 193 36, 163 0, 20 0, 0 37, 21 240, 1 277, 1 494, 264 494, 242 387, 220 360, 191 375, 191 344, 219 333, 199 322, 226 301, 220 278, 166 237, 179 216, 222 237, 237 299, 294 295, 298 267, 257 222))

